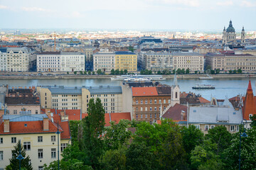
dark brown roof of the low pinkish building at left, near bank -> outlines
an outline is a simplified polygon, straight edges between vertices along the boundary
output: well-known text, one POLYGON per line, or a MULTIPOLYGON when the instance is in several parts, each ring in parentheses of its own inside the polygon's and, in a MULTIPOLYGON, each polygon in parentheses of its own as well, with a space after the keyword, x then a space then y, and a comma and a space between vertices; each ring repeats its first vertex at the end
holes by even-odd
POLYGON ((39 97, 6 97, 7 105, 40 105, 39 97))

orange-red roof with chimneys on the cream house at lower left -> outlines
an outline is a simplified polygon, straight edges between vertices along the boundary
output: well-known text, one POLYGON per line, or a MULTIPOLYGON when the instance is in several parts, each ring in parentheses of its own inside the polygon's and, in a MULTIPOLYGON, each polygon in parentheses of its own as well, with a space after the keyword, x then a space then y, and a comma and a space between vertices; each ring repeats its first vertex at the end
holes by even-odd
MULTIPOLYGON (((23 133, 48 133, 57 132, 57 125, 49 121, 49 130, 43 130, 43 120, 39 121, 24 121, 24 122, 9 122, 10 132, 4 132, 4 121, 0 125, 0 134, 23 134, 23 133), (25 127, 26 124, 26 127, 25 127)), ((63 132, 60 129, 60 132, 63 132)))

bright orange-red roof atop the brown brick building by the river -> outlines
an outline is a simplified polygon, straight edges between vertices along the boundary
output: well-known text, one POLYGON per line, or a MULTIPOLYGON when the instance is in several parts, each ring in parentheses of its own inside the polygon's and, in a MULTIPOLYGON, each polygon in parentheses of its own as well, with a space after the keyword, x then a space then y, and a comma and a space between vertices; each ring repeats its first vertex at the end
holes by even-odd
POLYGON ((158 96, 156 87, 132 87, 132 96, 158 96))

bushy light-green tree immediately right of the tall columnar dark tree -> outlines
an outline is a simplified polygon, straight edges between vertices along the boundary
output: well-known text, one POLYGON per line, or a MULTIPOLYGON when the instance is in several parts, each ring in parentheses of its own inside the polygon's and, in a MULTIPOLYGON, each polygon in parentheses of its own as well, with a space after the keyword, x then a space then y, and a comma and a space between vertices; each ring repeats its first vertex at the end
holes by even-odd
POLYGON ((118 124, 110 122, 110 127, 105 129, 105 146, 107 149, 118 149, 127 144, 132 136, 132 132, 127 130, 131 122, 129 120, 120 120, 118 124))

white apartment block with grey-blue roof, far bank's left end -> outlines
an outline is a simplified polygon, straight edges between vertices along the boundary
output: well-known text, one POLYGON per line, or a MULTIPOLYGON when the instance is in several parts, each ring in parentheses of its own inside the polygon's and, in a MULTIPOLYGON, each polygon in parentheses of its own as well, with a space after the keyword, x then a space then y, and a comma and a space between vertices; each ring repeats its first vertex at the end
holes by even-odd
POLYGON ((7 48, 7 71, 8 72, 28 72, 33 67, 36 57, 28 47, 7 48))

